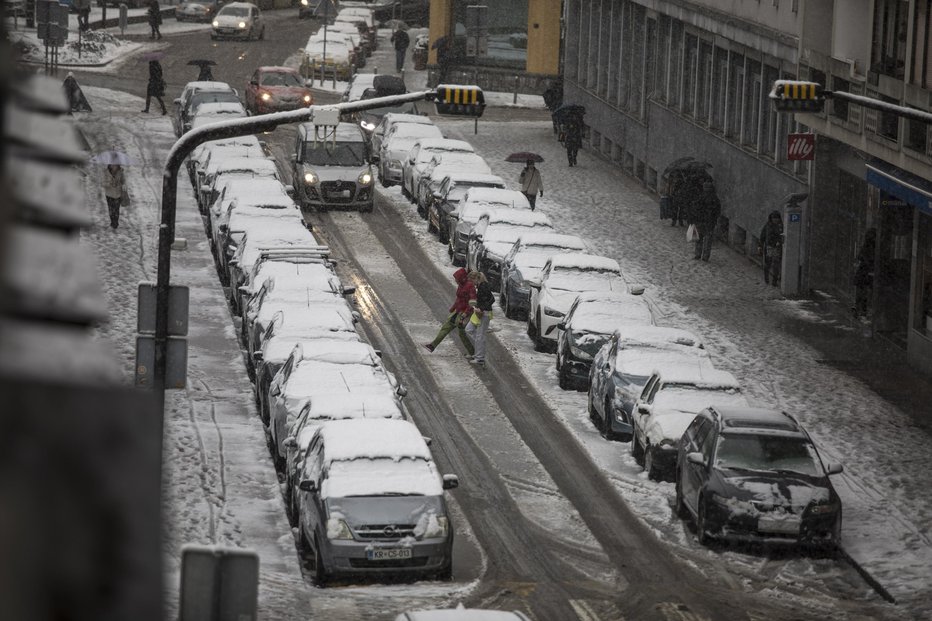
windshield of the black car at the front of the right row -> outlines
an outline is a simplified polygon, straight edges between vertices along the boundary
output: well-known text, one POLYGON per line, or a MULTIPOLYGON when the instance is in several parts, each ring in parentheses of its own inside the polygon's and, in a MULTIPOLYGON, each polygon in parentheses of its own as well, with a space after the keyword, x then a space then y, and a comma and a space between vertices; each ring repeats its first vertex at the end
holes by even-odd
POLYGON ((781 436, 724 434, 718 444, 715 465, 733 470, 823 474, 812 443, 781 436))

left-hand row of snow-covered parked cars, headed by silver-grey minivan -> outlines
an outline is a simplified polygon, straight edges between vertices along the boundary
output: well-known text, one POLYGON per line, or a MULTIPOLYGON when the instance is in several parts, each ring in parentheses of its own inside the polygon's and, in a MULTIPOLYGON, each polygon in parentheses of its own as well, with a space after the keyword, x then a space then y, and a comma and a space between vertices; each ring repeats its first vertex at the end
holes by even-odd
MULTIPOLYGON (((190 97, 200 88, 194 84, 190 97)), ((361 145, 358 125, 346 125, 339 131, 355 131, 361 145)), ((318 129, 299 126, 298 154, 323 149, 318 129)), ((220 279, 241 317, 289 516, 318 583, 385 573, 450 578, 444 493, 458 480, 438 472, 428 441, 408 420, 406 390, 361 338, 354 288, 343 285, 305 225, 295 189, 255 136, 208 142, 187 166, 220 279)))

